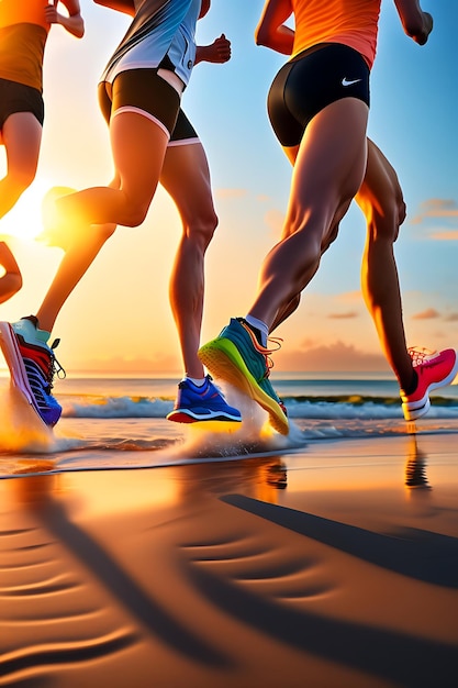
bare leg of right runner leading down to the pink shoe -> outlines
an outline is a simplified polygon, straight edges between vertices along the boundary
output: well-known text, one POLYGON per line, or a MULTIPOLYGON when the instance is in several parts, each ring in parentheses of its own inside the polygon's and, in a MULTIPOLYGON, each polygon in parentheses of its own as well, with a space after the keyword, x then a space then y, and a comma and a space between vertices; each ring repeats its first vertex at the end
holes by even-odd
POLYGON ((401 389, 413 380, 409 355, 393 243, 405 218, 398 176, 381 151, 368 141, 366 177, 356 201, 367 221, 367 240, 361 266, 366 306, 375 322, 380 344, 401 389))

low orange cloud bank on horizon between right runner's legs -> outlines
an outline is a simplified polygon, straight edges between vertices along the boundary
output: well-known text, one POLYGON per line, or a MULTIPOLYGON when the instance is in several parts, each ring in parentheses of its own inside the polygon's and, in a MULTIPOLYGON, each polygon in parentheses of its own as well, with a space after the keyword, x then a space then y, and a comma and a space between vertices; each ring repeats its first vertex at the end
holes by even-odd
POLYGON ((286 349, 276 353, 276 368, 282 370, 320 371, 320 373, 356 373, 387 371, 388 363, 381 353, 368 354, 353 345, 335 342, 328 346, 316 346, 288 353, 286 349))

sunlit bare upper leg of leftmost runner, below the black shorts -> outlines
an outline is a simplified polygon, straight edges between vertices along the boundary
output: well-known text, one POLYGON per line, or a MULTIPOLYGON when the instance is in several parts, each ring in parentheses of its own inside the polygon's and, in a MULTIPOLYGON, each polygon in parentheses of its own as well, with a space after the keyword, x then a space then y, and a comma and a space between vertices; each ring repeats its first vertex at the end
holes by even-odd
POLYGON ((3 124, 7 175, 0 180, 0 218, 18 202, 32 184, 38 164, 42 125, 31 112, 10 114, 3 124))

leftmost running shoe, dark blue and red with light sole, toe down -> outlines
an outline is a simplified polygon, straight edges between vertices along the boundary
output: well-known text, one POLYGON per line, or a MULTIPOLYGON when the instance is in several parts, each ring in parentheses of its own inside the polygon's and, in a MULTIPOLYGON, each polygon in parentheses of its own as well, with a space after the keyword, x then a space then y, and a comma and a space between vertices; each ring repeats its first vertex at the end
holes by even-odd
POLYGON ((34 315, 18 322, 0 322, 0 346, 11 373, 11 380, 42 421, 53 428, 60 418, 62 407, 52 396, 54 376, 65 377, 53 346, 47 345, 49 333, 38 330, 34 315))

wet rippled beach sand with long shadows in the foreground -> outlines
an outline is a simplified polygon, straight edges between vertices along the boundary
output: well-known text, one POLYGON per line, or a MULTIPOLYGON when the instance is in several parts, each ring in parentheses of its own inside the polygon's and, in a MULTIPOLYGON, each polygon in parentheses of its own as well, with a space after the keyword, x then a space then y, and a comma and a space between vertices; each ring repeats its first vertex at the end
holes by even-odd
POLYGON ((458 686, 455 443, 1 480, 0 686, 458 686))

